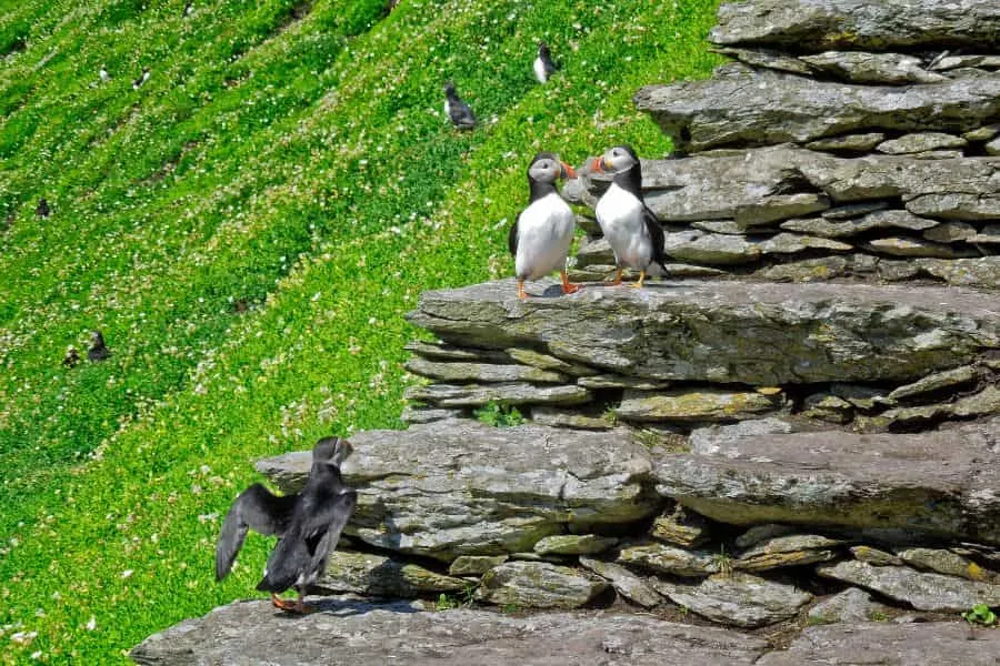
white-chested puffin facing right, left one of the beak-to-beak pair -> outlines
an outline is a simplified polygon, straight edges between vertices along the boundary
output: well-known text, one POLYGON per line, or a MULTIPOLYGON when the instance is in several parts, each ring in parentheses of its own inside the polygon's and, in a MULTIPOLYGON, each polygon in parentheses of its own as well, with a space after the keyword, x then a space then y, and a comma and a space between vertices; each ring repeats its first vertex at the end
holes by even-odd
POLYGON ((556 270, 562 274, 562 293, 580 289, 566 276, 566 256, 576 225, 573 211, 556 189, 556 181, 566 178, 577 178, 577 173, 554 153, 540 152, 528 165, 531 196, 507 236, 507 246, 514 256, 519 299, 528 297, 526 280, 538 280, 556 270))

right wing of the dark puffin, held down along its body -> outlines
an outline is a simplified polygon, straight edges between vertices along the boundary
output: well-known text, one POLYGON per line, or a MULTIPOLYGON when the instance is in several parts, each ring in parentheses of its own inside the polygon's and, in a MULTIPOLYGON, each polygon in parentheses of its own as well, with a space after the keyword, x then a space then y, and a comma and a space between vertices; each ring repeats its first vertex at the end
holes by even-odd
POLYGON ((358 494, 344 490, 322 506, 299 506, 292 525, 268 557, 267 571, 257 589, 284 592, 296 585, 300 576, 318 573, 313 569, 337 545, 357 502, 358 494))

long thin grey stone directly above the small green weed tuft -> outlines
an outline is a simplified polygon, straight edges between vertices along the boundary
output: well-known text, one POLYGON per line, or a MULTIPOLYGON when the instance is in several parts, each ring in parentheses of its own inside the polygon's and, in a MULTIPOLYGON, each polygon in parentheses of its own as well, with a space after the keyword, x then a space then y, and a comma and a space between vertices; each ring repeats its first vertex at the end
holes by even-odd
POLYGON ((478 407, 491 402, 506 405, 578 405, 590 400, 590 392, 582 386, 573 385, 536 386, 527 382, 501 382, 499 384, 410 386, 403 396, 407 400, 431 403, 442 407, 478 407))

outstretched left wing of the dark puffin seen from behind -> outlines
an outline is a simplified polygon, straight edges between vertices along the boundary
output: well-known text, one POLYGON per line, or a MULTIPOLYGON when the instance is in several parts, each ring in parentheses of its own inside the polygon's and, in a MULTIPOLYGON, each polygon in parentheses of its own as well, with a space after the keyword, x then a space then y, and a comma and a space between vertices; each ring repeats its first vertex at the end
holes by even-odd
POLYGON ((240 493, 226 514, 222 533, 216 545, 216 579, 221 581, 229 575, 248 529, 252 528, 263 535, 284 534, 297 500, 298 495, 279 497, 259 483, 240 493))

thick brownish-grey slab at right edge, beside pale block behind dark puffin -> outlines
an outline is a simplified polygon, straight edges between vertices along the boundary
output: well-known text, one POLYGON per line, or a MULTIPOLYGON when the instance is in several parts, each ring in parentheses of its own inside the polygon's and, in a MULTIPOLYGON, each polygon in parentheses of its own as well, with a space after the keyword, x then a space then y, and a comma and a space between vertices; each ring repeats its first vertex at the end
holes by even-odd
POLYGON ((658 490, 724 523, 899 527, 1000 543, 1000 420, 919 434, 732 436, 658 455, 658 490))

